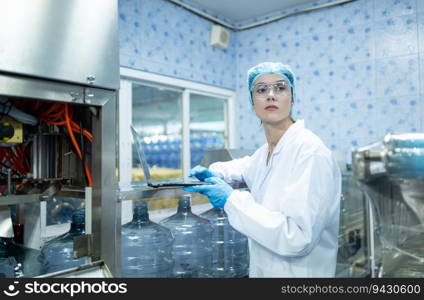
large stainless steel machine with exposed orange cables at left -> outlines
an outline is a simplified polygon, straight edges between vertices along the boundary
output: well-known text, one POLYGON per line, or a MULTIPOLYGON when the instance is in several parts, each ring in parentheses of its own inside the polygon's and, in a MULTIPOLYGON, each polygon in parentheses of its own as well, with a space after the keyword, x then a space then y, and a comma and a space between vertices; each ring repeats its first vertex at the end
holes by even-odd
POLYGON ((39 249, 47 203, 79 198, 86 235, 74 253, 87 263, 54 276, 120 275, 118 89, 117 0, 1 1, 0 237, 23 224, 20 242, 39 249))

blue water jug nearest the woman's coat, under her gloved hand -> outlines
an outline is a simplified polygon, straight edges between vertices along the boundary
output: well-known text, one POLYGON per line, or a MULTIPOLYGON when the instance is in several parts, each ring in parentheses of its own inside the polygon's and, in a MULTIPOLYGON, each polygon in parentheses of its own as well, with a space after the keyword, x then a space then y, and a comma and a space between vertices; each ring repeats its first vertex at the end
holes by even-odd
POLYGON ((211 221, 213 277, 246 277, 249 274, 247 237, 235 230, 222 208, 212 208, 201 217, 211 221))

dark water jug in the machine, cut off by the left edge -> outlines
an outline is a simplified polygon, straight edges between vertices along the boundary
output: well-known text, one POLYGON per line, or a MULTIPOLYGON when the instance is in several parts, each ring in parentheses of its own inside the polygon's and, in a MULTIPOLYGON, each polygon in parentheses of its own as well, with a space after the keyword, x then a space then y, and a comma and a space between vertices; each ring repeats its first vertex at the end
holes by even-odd
POLYGON ((0 278, 40 275, 39 250, 16 244, 10 237, 0 237, 0 278))

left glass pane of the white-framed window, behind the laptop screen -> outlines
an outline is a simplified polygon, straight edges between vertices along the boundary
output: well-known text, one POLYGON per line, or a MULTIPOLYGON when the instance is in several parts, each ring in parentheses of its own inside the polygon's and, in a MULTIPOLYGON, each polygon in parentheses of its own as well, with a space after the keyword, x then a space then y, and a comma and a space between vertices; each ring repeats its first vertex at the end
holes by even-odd
MULTIPOLYGON (((133 84, 132 124, 143 137, 152 179, 182 177, 180 91, 133 84)), ((133 145, 132 180, 144 180, 133 145)))

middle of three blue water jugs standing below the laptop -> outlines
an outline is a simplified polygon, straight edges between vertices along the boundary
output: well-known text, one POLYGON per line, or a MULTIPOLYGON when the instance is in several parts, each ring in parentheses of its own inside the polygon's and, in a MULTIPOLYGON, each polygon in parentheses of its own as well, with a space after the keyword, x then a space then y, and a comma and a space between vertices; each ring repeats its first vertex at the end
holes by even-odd
POLYGON ((191 196, 179 199, 177 213, 160 221, 174 237, 173 276, 178 278, 212 277, 212 231, 210 221, 191 212, 191 196))

